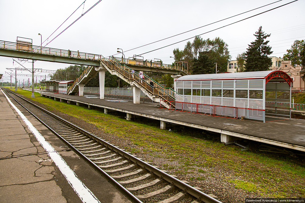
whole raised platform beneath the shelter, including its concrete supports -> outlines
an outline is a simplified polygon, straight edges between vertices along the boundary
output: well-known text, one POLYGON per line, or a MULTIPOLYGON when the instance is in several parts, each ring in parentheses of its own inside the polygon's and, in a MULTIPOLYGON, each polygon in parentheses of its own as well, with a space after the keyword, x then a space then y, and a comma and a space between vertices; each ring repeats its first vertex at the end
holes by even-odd
POLYGON ((40 92, 54 100, 96 106, 109 111, 126 113, 126 119, 147 117, 160 121, 160 128, 166 129, 173 125, 184 125, 221 134, 221 142, 231 142, 237 139, 248 139, 261 143, 285 147, 305 152, 305 120, 283 119, 270 117, 266 123, 253 120, 240 120, 210 115, 194 114, 157 107, 152 103, 133 104, 132 102, 114 102, 111 99, 86 98, 83 96, 54 94, 40 92), (268 122, 272 121, 272 122, 268 122))

